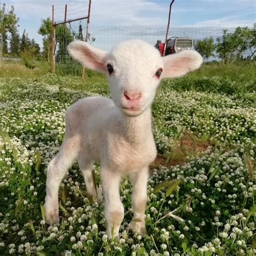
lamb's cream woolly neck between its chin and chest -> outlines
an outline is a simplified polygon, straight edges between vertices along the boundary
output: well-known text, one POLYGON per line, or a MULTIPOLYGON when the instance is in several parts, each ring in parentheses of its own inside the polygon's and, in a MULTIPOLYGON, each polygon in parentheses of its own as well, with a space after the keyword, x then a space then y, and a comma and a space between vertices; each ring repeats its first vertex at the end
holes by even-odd
POLYGON ((151 109, 137 117, 123 115, 123 130, 125 139, 131 144, 145 143, 152 136, 151 109))

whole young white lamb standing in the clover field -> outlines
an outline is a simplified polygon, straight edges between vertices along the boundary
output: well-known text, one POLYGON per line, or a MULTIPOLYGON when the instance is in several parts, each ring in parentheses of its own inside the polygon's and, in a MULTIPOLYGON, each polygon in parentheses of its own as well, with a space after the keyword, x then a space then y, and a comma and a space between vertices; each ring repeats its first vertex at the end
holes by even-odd
POLYGON ((109 53, 76 41, 69 54, 86 68, 106 73, 112 99, 78 100, 66 111, 65 139, 47 171, 45 218, 59 222, 58 189, 75 160, 83 172, 87 193, 98 200, 92 165, 100 164, 107 236, 118 237, 124 218, 120 180, 129 174, 133 232, 145 232, 149 165, 157 155, 151 129, 151 104, 161 78, 179 77, 200 67, 203 59, 186 50, 160 57, 157 49, 140 40, 125 41, 109 53))

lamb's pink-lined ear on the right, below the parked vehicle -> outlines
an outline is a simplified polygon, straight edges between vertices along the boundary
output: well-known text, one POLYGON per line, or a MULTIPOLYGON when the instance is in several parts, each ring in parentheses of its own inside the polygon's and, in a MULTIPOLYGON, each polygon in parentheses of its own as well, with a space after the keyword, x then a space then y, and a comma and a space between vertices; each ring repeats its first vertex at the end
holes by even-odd
POLYGON ((164 70, 161 78, 180 77, 200 68, 203 58, 197 51, 185 50, 163 57, 164 70))

